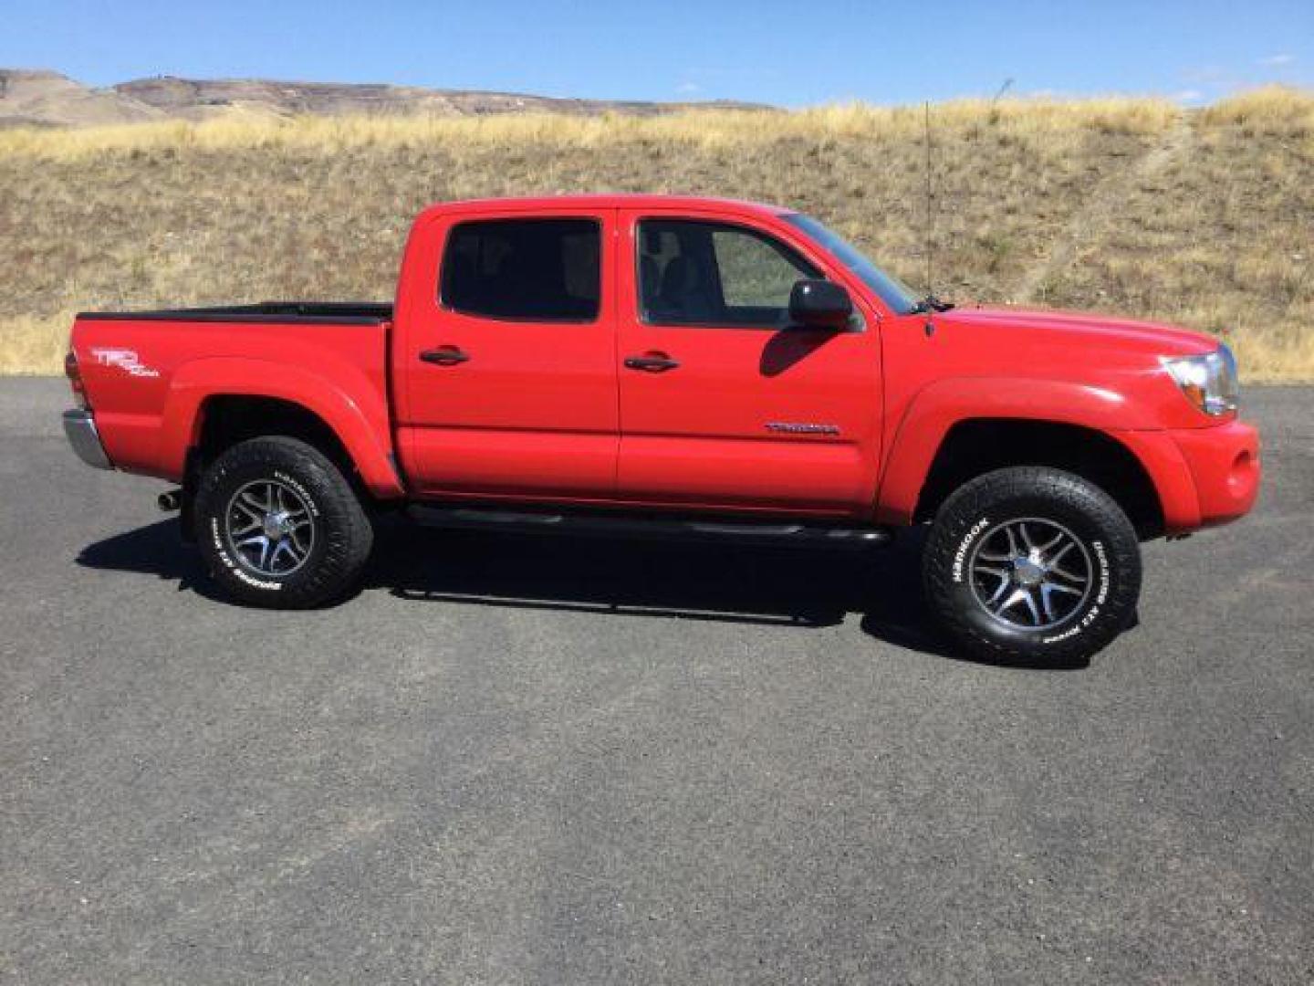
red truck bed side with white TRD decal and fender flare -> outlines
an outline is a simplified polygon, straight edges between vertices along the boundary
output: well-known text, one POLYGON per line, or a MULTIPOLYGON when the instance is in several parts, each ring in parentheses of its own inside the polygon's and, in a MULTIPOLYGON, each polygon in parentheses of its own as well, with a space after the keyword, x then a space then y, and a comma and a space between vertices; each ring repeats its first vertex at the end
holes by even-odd
POLYGON ((120 469, 180 481, 208 402, 251 396, 318 415, 353 443, 377 480, 371 488, 390 492, 392 316, 390 304, 368 301, 88 312, 74 322, 71 346, 120 469))

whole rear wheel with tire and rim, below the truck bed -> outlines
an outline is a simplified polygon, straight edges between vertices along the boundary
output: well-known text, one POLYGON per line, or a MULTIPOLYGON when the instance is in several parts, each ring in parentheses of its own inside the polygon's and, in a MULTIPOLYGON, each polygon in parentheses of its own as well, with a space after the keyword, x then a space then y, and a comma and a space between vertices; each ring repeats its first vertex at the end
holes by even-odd
POLYGON ((351 484, 294 438, 229 448, 202 475, 194 513, 210 576, 255 606, 307 609, 340 598, 373 544, 351 484))

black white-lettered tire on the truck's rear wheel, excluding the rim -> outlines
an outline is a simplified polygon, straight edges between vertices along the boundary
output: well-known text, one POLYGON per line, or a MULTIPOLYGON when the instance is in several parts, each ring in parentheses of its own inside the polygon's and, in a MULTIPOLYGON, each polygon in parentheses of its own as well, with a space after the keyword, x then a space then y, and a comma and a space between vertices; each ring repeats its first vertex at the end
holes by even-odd
POLYGON ((201 476, 194 514, 196 543, 210 577, 225 594, 252 606, 309 609, 339 599, 356 584, 373 547, 373 527, 351 484, 322 452, 294 438, 254 438, 225 451, 201 476), (260 480, 294 490, 314 525, 304 561, 284 576, 244 563, 226 526, 238 490, 260 480))

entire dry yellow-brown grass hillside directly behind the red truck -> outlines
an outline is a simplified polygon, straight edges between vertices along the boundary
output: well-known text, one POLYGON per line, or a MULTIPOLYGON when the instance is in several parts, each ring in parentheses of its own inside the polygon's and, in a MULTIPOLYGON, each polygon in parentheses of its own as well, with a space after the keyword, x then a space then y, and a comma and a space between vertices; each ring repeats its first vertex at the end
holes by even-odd
MULTIPOLYGON (((932 113, 938 293, 1179 322, 1251 380, 1314 379, 1314 95, 932 113)), ((81 308, 385 298, 443 199, 761 199, 920 284, 924 180, 920 108, 3 130, 0 369, 57 371, 81 308)))

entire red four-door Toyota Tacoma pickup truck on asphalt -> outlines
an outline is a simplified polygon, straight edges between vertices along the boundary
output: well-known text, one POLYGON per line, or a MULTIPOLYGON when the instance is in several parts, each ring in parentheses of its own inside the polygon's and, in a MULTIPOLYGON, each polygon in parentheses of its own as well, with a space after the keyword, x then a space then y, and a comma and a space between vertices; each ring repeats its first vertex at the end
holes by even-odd
POLYGON ((388 304, 99 312, 64 415, 170 480, 214 580, 350 590, 386 510, 439 526, 819 546, 929 525, 949 636, 1084 660, 1139 542, 1240 517, 1259 440, 1226 346, 1102 316, 918 300, 813 218, 738 201, 435 205, 388 304))

